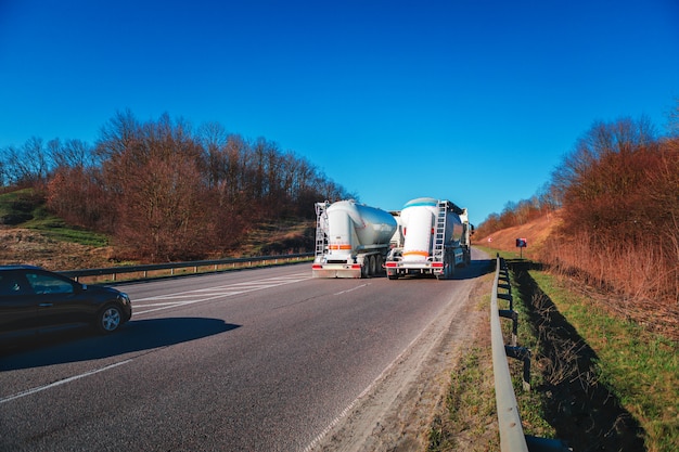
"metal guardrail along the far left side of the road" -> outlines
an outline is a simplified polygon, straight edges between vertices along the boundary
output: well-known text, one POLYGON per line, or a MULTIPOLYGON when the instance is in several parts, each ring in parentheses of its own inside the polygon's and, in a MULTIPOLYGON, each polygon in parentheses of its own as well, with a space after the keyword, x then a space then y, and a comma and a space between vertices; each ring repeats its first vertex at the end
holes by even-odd
POLYGON ((139 279, 148 279, 149 272, 169 270, 170 275, 175 275, 175 271, 178 269, 193 268, 192 273, 198 273, 198 269, 205 269, 204 271, 219 271, 231 268, 252 267, 254 262, 257 263, 279 263, 279 261, 290 262, 293 260, 302 260, 312 257, 313 253, 300 253, 296 255, 279 255, 279 256, 258 256, 258 257, 241 257, 230 259, 217 259, 217 260, 196 260, 189 262, 170 262, 170 263, 152 263, 144 266, 124 266, 124 267, 111 267, 103 269, 85 269, 85 270, 68 270, 61 271, 60 274, 64 276, 73 277, 78 281, 85 276, 111 276, 113 281, 116 281, 119 274, 139 273, 139 279), (207 270, 212 268, 212 270, 207 270))

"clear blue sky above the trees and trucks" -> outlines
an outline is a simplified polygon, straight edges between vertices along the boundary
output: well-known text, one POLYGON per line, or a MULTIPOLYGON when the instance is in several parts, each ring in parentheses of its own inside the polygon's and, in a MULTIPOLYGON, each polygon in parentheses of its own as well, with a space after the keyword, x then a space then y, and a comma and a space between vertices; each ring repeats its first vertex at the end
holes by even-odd
POLYGON ((663 132, 678 99, 677 0, 0 0, 0 148, 168 113, 368 205, 448 198, 476 224, 595 120, 663 132))

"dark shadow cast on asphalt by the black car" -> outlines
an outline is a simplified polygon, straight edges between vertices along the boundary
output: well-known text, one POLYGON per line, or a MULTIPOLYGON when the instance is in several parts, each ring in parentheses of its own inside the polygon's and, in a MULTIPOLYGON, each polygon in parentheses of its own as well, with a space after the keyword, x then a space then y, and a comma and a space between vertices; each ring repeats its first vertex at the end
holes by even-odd
POLYGON ((0 349, 0 372, 111 358, 167 347, 240 327, 218 319, 172 318, 130 321, 118 333, 101 336, 88 328, 24 339, 0 349))

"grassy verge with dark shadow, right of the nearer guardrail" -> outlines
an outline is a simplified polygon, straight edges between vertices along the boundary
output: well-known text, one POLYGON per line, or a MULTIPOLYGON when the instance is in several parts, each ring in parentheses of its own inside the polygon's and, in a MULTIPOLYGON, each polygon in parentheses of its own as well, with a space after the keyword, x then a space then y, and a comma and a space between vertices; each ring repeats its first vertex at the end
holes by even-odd
POLYGON ((518 341, 533 351, 531 392, 521 390, 515 364, 513 372, 526 434, 559 437, 571 445, 579 437, 589 447, 675 451, 678 344, 615 317, 599 297, 573 290, 568 281, 536 270, 539 266, 515 261, 512 267, 518 341))

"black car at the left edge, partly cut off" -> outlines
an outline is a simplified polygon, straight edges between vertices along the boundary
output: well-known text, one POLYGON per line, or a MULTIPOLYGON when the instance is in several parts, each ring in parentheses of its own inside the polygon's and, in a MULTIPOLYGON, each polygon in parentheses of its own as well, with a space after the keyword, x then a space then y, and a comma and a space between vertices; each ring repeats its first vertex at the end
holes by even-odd
POLYGON ((118 331, 132 317, 127 294, 33 266, 0 266, 0 338, 90 324, 118 331))

